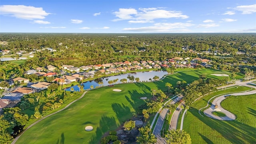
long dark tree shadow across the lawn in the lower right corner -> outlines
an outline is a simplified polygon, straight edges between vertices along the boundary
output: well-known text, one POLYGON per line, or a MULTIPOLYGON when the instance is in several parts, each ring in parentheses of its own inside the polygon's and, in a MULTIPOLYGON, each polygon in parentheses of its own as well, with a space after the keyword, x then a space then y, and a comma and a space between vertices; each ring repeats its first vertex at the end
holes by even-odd
POLYGON ((214 120, 207 116, 200 116, 198 114, 198 110, 190 107, 190 112, 196 116, 199 120, 204 122, 207 126, 209 126, 212 130, 216 130, 219 134, 221 134, 226 140, 230 141, 232 144, 240 143, 255 143, 256 137, 255 132, 256 128, 252 126, 248 126, 236 120, 233 121, 221 121, 214 120))

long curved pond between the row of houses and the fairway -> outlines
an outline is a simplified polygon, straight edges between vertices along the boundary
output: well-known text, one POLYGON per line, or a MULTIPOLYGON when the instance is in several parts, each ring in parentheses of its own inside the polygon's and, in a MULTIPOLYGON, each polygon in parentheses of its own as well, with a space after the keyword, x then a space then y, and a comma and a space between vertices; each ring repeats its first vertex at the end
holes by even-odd
MULTIPOLYGON (((87 82, 83 82, 82 84, 84 85, 84 90, 90 89, 90 86, 99 86, 98 82, 103 82, 103 86, 108 86, 108 81, 109 80, 115 80, 118 79, 117 83, 122 83, 120 82, 121 79, 126 78, 127 82, 130 82, 130 80, 127 78, 127 76, 134 76, 134 78, 140 78, 140 82, 142 81, 150 81, 149 79, 151 78, 153 80, 154 76, 158 76, 159 78, 162 78, 164 75, 168 74, 166 71, 148 71, 148 72, 133 72, 133 73, 127 73, 127 74, 119 74, 116 76, 108 76, 108 77, 102 77, 102 78, 97 78, 95 80, 90 80, 87 82)), ((134 80, 135 82, 135 80, 134 80)), ((78 86, 72 86, 70 88, 74 88, 74 91, 79 91, 78 86)), ((70 88, 67 88, 67 91, 70 91, 70 88)))

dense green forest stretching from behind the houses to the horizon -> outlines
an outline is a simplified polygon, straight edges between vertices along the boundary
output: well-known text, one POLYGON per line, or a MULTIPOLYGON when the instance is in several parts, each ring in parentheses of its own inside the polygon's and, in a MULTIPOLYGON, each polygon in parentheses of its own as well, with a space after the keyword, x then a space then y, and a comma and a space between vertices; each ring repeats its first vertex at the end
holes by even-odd
POLYGON ((203 57, 219 63, 255 63, 256 34, 33 34, 2 33, 2 50, 36 52, 27 61, 45 66, 82 66, 123 60, 165 60, 175 56, 203 57), (42 50, 52 48, 56 52, 42 50), (192 51, 193 50, 193 51, 192 51), (245 54, 238 55, 237 52, 245 54), (218 58, 229 55, 231 58, 218 58))

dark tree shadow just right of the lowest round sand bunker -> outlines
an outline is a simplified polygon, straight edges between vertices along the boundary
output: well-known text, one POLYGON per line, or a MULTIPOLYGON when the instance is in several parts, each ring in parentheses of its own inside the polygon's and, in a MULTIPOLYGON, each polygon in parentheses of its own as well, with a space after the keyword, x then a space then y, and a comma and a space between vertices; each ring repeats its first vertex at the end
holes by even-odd
POLYGON ((102 136, 109 130, 115 130, 118 128, 116 119, 114 117, 102 116, 100 119, 100 125, 96 128, 96 134, 92 136, 88 144, 99 144, 102 136))

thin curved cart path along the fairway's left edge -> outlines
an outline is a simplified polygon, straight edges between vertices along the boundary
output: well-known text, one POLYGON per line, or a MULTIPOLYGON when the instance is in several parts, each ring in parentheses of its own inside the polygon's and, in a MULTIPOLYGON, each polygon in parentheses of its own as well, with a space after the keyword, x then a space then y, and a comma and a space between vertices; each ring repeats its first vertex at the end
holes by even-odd
POLYGON ((29 128, 31 128, 32 126, 34 126, 35 124, 37 124, 38 122, 41 122, 41 121, 44 120, 45 118, 48 118, 49 116, 52 116, 52 115, 54 115, 54 114, 56 114, 56 113, 58 113, 58 112, 61 112, 62 110, 65 110, 65 109, 68 108, 71 104, 73 104, 74 102, 76 102, 76 101, 80 100, 82 97, 84 97, 84 94, 86 94, 86 92, 88 92, 88 90, 85 91, 85 92, 82 94, 82 96, 80 96, 80 98, 74 100, 73 102, 70 102, 70 103, 69 103, 68 105, 66 105, 64 108, 58 110, 57 112, 54 112, 54 113, 52 113, 52 114, 49 114, 49 115, 47 115, 47 116, 41 118, 40 120, 34 122, 34 123, 31 124, 30 126, 28 126, 28 128, 26 128, 25 130, 23 130, 23 131, 20 133, 20 135, 17 136, 17 137, 13 140, 12 144, 15 144, 15 142, 20 138, 20 136, 22 136, 22 134, 23 134, 24 132, 26 132, 26 130, 28 130, 29 128))

